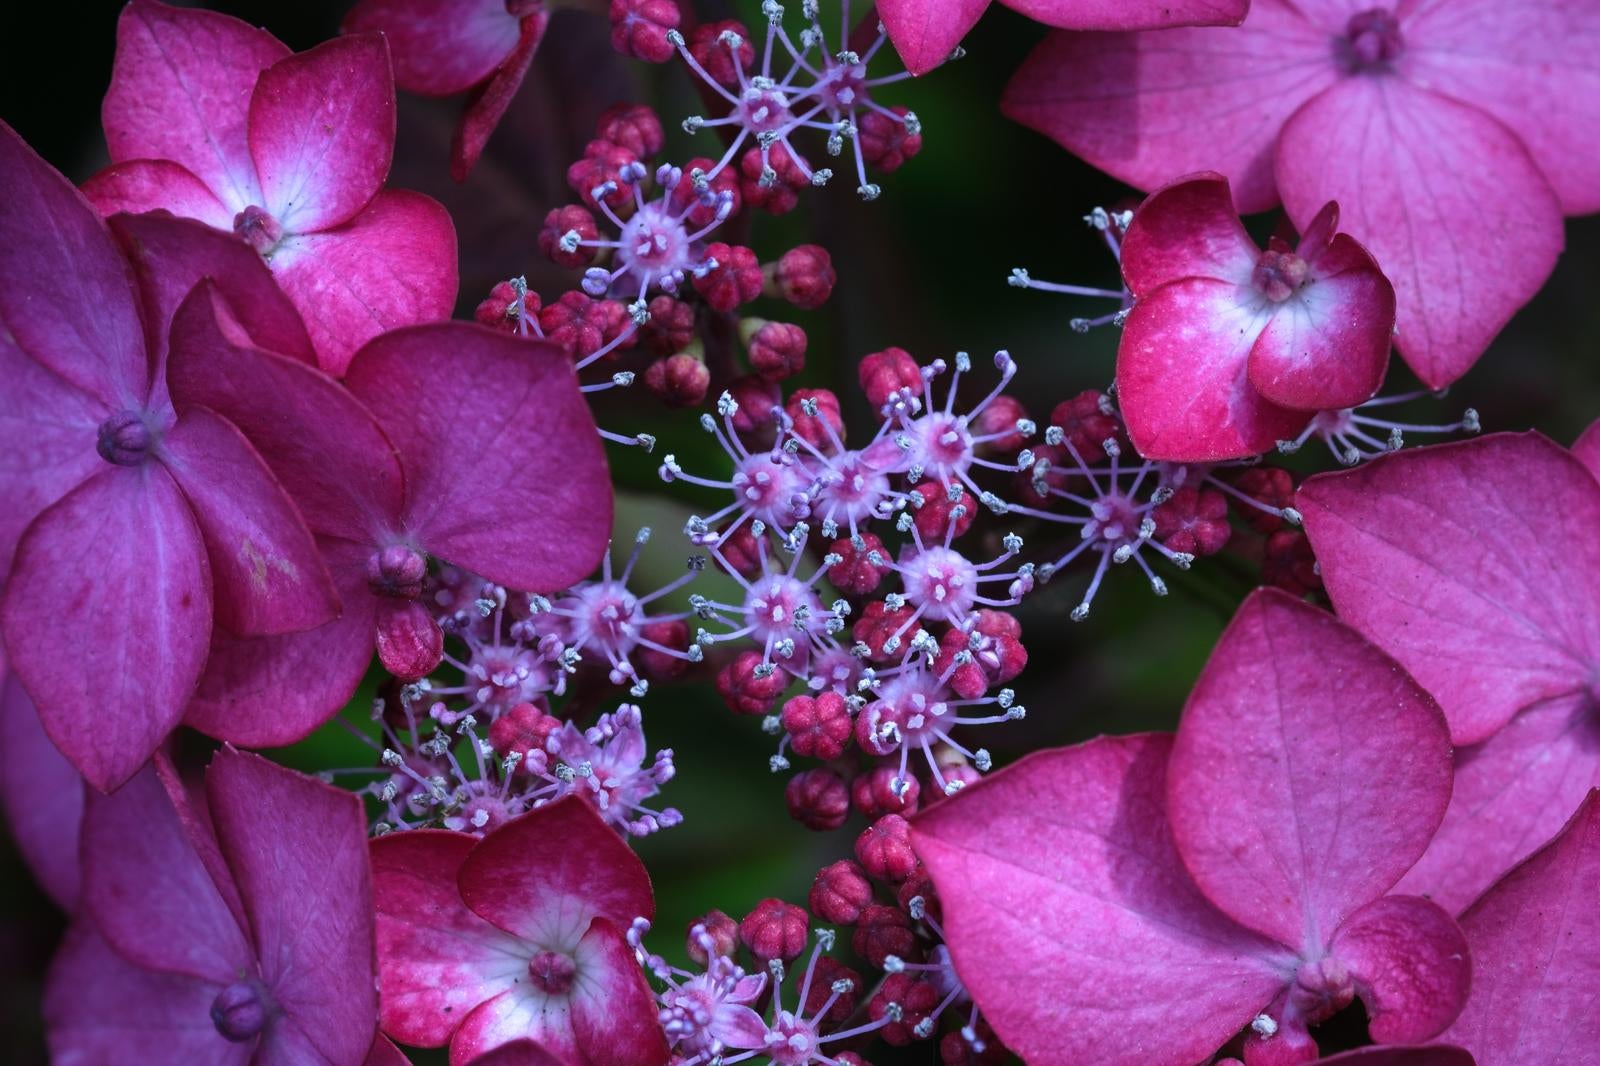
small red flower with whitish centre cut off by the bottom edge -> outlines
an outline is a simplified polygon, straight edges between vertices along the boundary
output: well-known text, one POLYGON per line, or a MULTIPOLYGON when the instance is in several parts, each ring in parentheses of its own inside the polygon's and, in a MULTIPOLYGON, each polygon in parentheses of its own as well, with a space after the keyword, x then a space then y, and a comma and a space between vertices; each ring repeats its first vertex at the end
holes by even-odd
POLYGON ((517 1039, 573 1063, 667 1061, 627 941, 651 919, 643 863, 576 797, 482 840, 442 829, 371 842, 384 1032, 450 1061, 517 1039))

